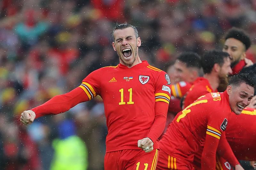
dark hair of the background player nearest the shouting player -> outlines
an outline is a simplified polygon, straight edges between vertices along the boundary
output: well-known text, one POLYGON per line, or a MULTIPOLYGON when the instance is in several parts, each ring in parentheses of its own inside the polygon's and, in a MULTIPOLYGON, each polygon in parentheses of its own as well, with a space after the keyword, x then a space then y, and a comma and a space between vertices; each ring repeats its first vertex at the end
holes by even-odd
POLYGON ((177 57, 177 60, 185 63, 187 67, 195 67, 201 69, 201 56, 199 56, 197 53, 191 51, 181 53, 177 57))

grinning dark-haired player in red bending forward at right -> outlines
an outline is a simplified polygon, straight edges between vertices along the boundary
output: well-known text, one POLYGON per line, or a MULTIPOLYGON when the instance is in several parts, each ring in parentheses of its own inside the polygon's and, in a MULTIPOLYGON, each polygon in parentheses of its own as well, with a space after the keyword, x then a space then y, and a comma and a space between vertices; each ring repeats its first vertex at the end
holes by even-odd
POLYGON ((236 170, 243 169, 222 135, 230 115, 241 114, 253 93, 252 79, 239 74, 230 79, 225 92, 207 93, 178 113, 159 142, 157 169, 194 169, 194 155, 201 147, 202 169, 215 169, 217 147, 226 148, 220 154, 236 165, 236 170))

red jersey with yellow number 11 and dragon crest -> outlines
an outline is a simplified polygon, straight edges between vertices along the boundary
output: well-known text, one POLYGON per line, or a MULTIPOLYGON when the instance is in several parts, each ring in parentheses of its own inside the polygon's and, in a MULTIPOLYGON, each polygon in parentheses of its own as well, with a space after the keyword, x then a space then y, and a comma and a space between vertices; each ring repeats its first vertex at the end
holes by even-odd
MULTIPOLYGON (((171 96, 169 76, 147 61, 132 68, 120 63, 100 68, 79 87, 89 99, 97 94, 103 99, 108 127, 106 152, 140 149, 137 141, 144 137, 154 141, 149 132, 155 120, 155 102, 169 104, 171 96)), ((159 148, 156 139, 154 149, 159 148)))

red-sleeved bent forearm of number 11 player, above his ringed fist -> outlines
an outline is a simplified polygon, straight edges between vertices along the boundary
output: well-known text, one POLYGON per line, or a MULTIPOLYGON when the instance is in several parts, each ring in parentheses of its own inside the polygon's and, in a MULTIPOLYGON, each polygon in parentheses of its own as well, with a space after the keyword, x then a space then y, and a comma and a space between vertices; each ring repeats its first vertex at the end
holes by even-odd
POLYGON ((168 104, 165 102, 158 101, 156 102, 155 108, 155 120, 150 128, 148 136, 153 142, 155 142, 158 137, 163 133, 166 115, 168 110, 168 104))

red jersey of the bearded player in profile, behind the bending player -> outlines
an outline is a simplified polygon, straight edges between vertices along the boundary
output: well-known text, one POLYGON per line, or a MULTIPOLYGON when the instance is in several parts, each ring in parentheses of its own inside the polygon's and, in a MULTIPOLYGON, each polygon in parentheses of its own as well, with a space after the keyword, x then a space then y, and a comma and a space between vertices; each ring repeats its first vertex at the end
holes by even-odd
POLYGON ((212 89, 209 81, 206 78, 198 77, 185 97, 184 107, 187 107, 193 103, 198 97, 210 92, 217 92, 217 90, 212 89))

